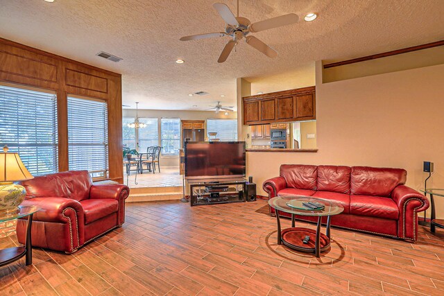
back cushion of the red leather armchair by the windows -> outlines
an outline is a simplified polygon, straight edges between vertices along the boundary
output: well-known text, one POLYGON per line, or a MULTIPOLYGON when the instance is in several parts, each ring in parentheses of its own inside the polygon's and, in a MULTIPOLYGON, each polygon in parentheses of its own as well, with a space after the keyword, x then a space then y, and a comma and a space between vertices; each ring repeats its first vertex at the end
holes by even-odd
POLYGON ((26 198, 71 198, 80 201, 89 198, 92 180, 88 171, 67 171, 22 181, 22 185, 26 188, 26 198))

